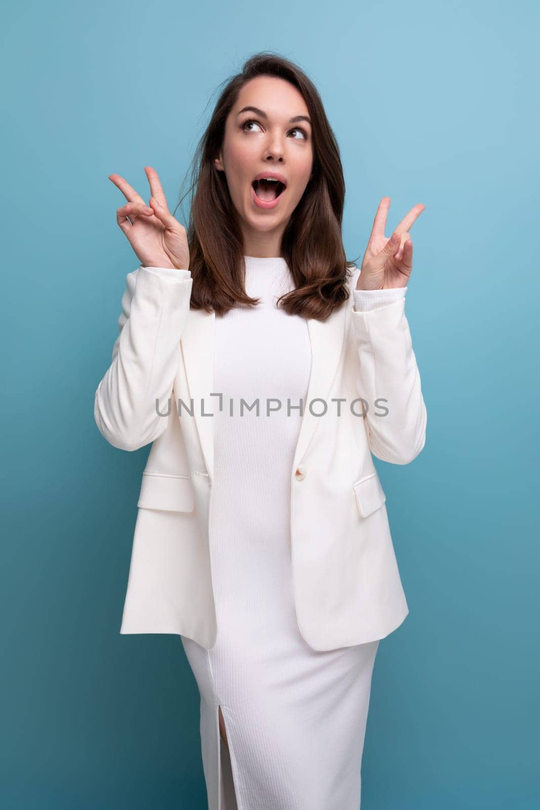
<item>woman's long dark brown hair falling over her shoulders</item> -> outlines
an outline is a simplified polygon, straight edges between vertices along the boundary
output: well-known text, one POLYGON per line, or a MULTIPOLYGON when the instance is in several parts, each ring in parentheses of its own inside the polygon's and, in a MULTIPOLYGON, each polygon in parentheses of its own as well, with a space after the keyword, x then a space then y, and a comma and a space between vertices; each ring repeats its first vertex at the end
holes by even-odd
POLYGON ((261 75, 277 76, 294 85, 304 97, 313 122, 313 174, 287 223, 281 244, 296 288, 281 296, 279 302, 290 315, 325 321, 347 301, 347 281, 350 268, 355 266, 347 262, 342 243, 342 162, 317 88, 300 67, 271 52, 256 53, 239 74, 225 79, 227 86, 195 151, 186 229, 193 278, 190 307, 222 315, 237 305, 257 305, 258 299, 248 296, 244 289, 242 233, 225 173, 215 171, 214 159, 240 88, 261 75))

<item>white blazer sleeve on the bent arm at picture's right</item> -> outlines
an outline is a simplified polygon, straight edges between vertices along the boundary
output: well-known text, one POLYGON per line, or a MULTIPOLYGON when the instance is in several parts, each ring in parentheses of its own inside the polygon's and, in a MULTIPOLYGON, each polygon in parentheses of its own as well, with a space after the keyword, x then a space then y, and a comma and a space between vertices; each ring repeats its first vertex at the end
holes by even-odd
POLYGON ((426 441, 427 411, 404 292, 392 301, 388 295, 389 303, 381 300, 373 306, 366 296, 362 309, 357 308, 360 296, 355 295, 351 309, 369 448, 376 458, 392 464, 413 461, 426 441))

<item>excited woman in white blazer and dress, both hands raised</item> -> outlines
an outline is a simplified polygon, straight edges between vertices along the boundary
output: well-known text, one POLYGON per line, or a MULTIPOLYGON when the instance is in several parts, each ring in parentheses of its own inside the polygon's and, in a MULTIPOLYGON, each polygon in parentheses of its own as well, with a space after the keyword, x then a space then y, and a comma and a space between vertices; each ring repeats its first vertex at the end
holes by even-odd
POLYGON ((407 463, 425 441, 403 314, 423 206, 388 240, 383 198, 361 273, 347 262, 320 97, 267 53, 223 90, 199 159, 187 232, 151 167, 148 206, 110 176, 141 266, 96 422, 125 450, 154 442, 121 632, 181 635, 210 810, 357 810, 376 650, 408 612, 369 450, 407 463), (372 357, 384 428, 373 403, 364 419, 300 412, 306 392, 375 393, 372 357), (219 408, 193 421, 180 399, 202 391, 219 408))

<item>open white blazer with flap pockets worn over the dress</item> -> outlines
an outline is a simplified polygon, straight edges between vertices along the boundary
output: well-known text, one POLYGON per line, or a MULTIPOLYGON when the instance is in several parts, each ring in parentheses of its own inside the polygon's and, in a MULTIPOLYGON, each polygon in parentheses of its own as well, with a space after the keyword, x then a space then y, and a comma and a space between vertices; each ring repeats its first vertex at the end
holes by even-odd
MULTIPOLYGON (((410 463, 427 413, 405 298, 356 311, 358 276, 356 268, 351 298, 330 318, 307 321, 312 368, 291 467, 291 557, 298 626, 313 650, 383 638, 409 612, 372 454, 410 463)), ((210 649, 215 313, 189 309, 192 285, 189 271, 139 266, 127 275, 94 415, 114 447, 153 442, 120 633, 178 633, 210 649)))

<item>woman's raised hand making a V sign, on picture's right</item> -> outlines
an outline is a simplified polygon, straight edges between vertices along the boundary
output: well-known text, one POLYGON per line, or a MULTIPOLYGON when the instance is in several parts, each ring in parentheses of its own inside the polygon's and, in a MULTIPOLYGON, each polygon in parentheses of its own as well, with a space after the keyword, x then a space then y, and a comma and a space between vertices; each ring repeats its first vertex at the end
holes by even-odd
POLYGON ((368 247, 362 259, 357 290, 388 290, 406 287, 413 269, 413 243, 409 229, 425 208, 419 203, 403 217, 392 237, 385 237, 390 198, 383 197, 373 222, 368 247))

